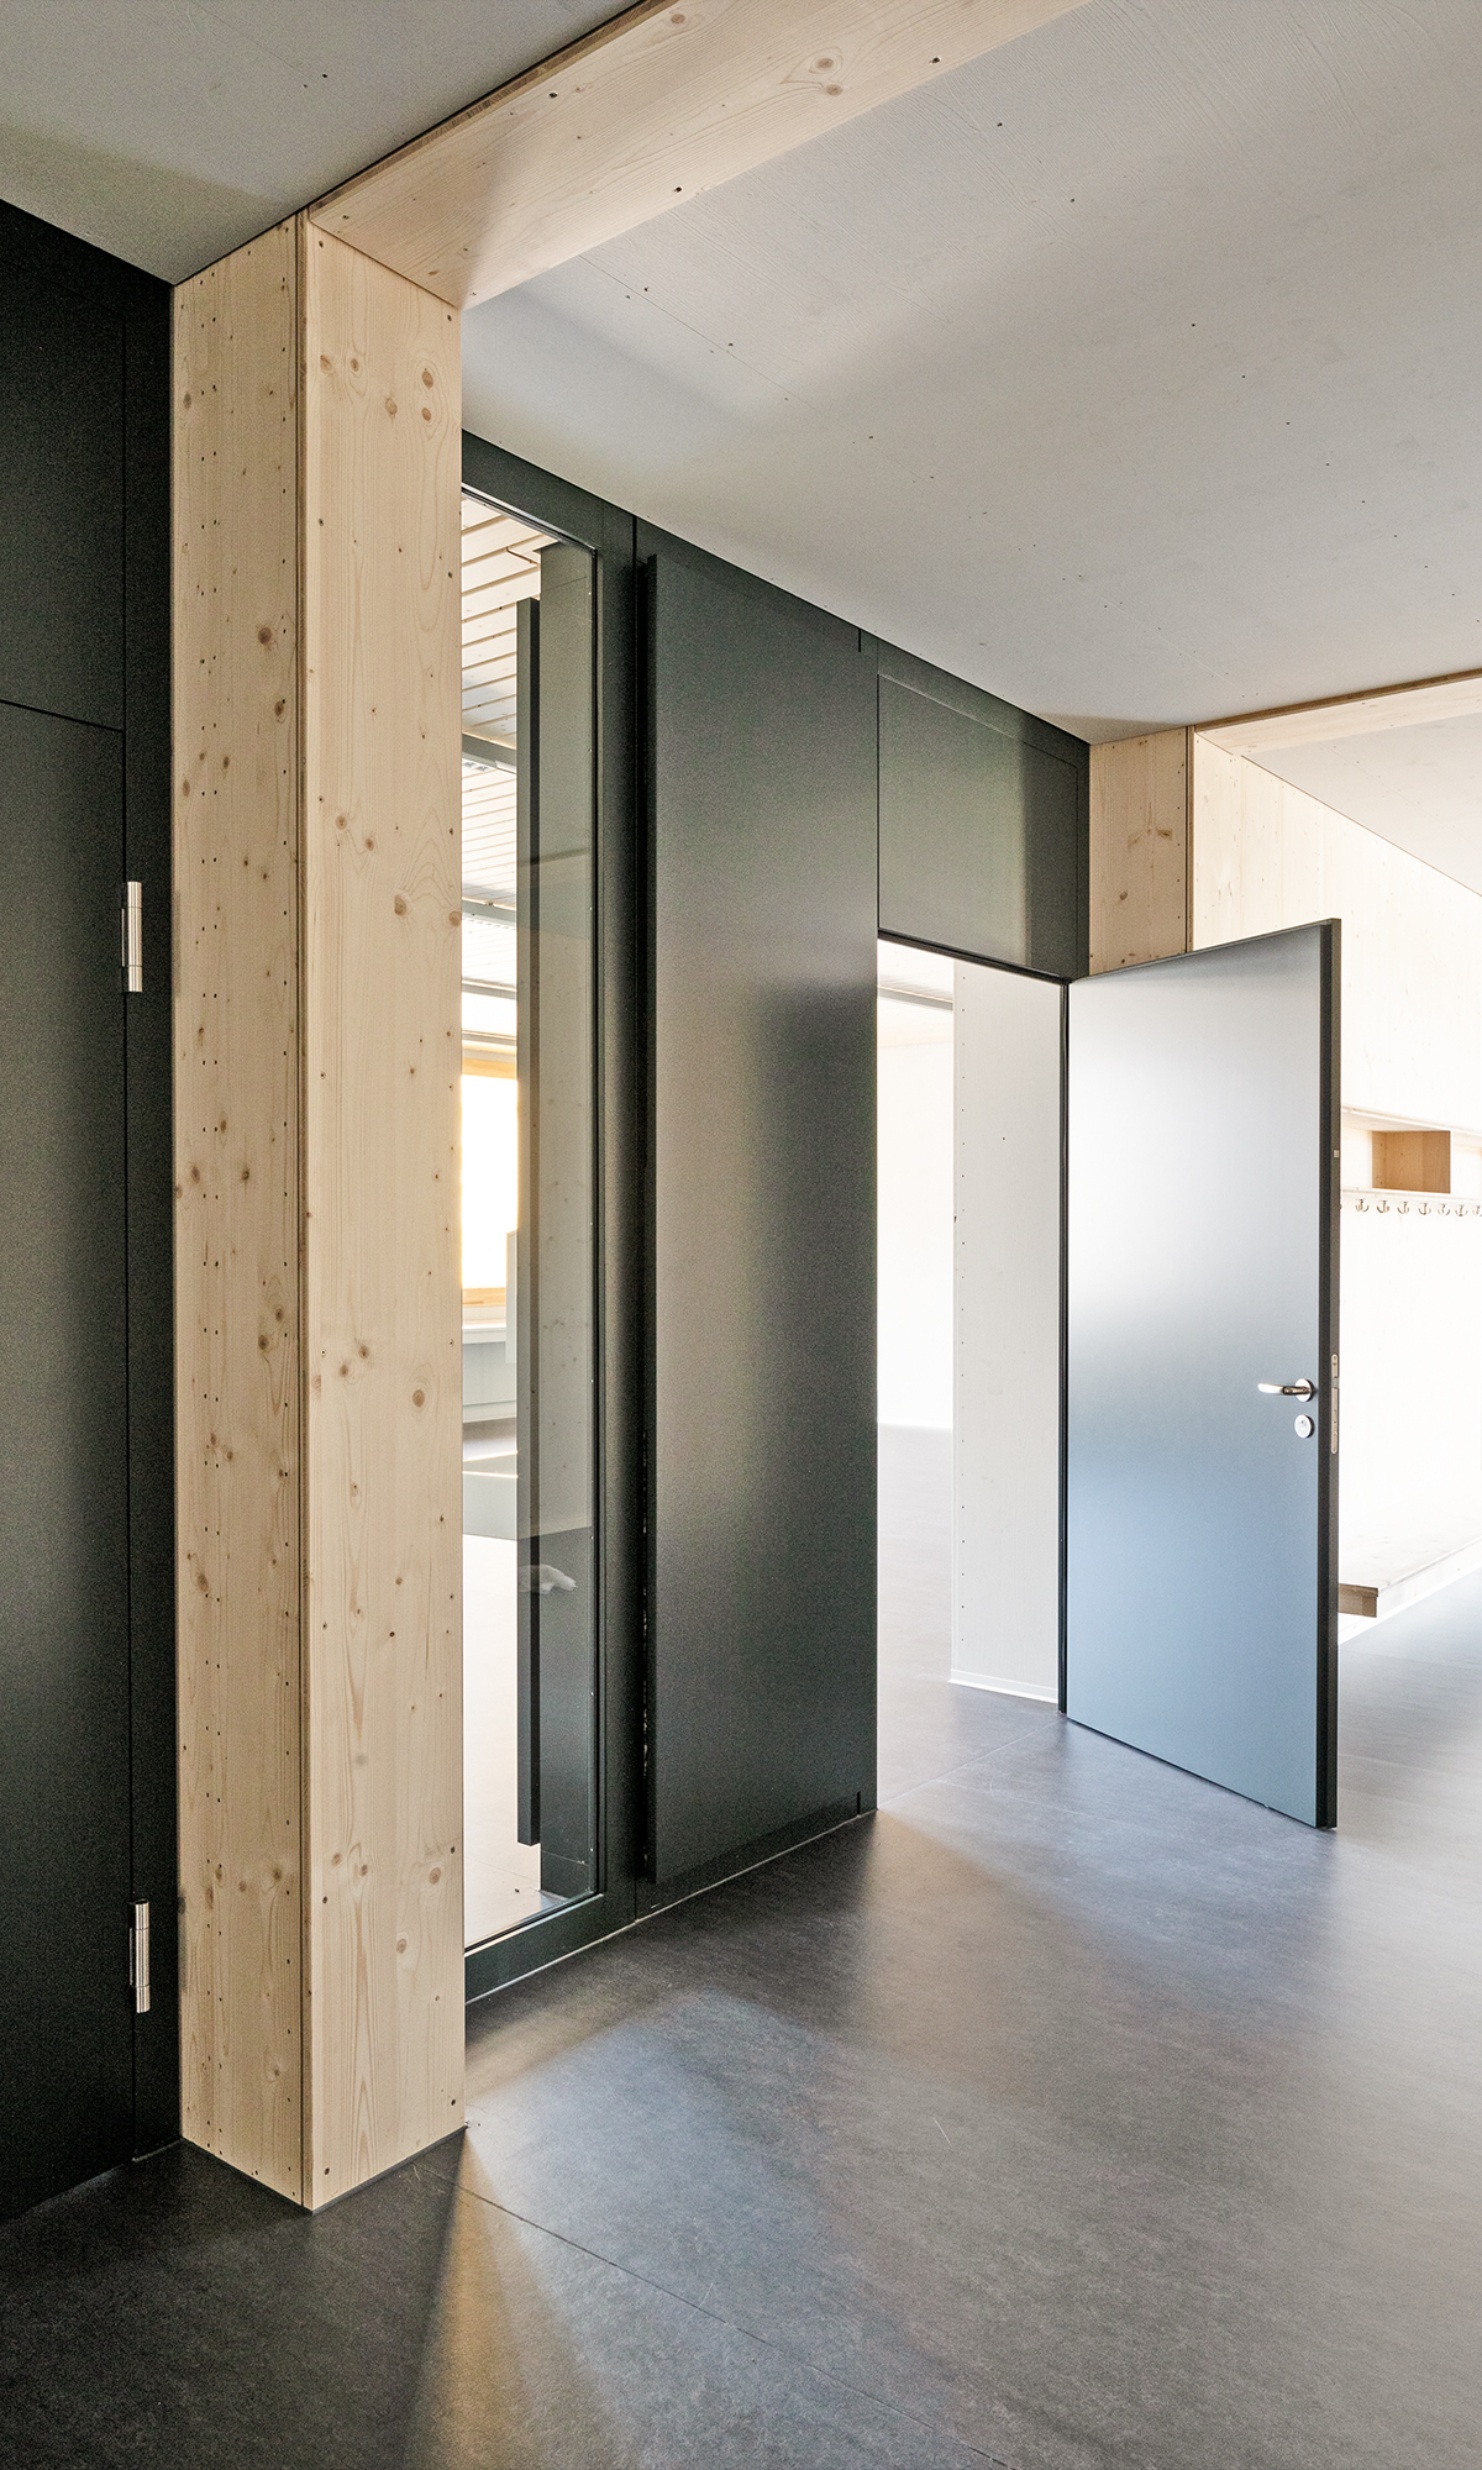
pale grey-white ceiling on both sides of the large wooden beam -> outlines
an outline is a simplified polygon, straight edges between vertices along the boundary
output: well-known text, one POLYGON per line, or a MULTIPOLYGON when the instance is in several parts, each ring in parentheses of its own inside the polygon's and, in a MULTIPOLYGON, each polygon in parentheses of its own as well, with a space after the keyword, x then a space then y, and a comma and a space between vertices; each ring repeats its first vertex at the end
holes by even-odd
MULTIPOLYGON (((183 277, 605 15, 5 0, 0 195, 183 277)), ((1480 237, 1477 0, 1089 0, 474 311, 467 403, 1119 736, 1482 667, 1480 237)))

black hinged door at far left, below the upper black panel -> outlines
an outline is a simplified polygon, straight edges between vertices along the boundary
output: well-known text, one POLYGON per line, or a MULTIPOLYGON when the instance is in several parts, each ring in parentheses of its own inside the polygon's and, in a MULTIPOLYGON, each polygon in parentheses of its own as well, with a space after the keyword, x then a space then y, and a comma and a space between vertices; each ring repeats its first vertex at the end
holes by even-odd
POLYGON ((0 704, 0 2216, 128 2156, 124 751, 0 704))

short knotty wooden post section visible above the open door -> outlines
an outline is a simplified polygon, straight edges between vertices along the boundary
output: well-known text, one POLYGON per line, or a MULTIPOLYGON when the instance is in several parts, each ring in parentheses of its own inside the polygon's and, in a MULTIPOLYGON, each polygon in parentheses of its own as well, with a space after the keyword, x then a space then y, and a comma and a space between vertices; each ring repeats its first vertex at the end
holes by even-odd
POLYGON ((1188 731, 1092 746, 1092 973, 1188 951, 1188 731))

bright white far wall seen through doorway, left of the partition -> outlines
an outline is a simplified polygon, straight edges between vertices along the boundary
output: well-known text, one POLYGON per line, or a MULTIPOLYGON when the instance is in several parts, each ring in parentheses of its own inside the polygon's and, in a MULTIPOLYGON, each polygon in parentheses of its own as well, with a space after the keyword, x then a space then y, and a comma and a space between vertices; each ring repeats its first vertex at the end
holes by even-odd
POLYGON ((879 1423, 951 1430, 946 1005, 879 998, 879 1423))

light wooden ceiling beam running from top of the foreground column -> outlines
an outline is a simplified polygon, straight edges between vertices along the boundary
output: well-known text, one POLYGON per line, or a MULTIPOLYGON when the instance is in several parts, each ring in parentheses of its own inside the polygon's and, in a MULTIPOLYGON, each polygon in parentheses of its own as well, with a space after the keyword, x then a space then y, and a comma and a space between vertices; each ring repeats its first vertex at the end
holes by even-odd
POLYGON ((642 0, 311 220, 467 309, 1072 7, 1084 0, 642 0))

